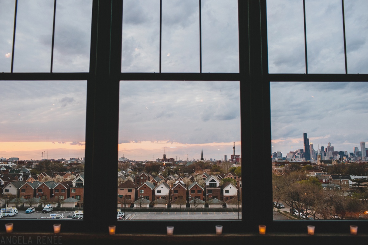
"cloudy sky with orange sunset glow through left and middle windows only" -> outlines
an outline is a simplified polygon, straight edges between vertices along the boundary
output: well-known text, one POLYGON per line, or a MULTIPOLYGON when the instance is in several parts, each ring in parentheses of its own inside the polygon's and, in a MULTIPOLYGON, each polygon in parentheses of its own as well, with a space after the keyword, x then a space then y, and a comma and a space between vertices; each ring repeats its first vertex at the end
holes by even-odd
MULTIPOLYGON (((0 72, 10 72, 14 0, 0 1, 0 72)), ((54 72, 89 69, 92 1, 57 1, 54 72)), ((202 1, 202 72, 238 72, 236 1, 202 1)), ((163 1, 162 72, 199 72, 197 0, 163 1)), ((53 1, 18 1, 14 72, 49 72, 53 1)), ((159 72, 159 0, 124 1, 122 72, 159 72)), ((84 157, 86 81, 0 83, 0 156, 84 157)), ((240 154, 239 82, 120 83, 119 157, 240 154)))

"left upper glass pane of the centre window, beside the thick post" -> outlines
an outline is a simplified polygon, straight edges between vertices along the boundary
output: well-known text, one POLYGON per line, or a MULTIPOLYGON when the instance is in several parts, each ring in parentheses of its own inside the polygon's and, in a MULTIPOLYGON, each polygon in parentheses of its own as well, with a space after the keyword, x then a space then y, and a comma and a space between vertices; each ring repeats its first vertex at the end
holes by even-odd
POLYGON ((159 72, 160 1, 123 2, 121 72, 159 72))

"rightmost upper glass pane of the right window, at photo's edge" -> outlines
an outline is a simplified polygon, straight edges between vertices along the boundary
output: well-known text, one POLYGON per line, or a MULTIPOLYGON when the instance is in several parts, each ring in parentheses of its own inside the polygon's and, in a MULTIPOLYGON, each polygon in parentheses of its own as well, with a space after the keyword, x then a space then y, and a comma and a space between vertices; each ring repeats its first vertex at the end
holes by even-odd
POLYGON ((368 2, 344 1, 348 73, 368 73, 368 2))

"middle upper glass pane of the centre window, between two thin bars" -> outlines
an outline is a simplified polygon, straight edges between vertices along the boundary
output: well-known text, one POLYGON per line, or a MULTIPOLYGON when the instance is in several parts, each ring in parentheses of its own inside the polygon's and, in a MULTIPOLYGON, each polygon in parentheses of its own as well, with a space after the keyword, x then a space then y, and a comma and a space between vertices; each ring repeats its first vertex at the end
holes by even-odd
POLYGON ((197 0, 162 1, 162 72, 199 72, 197 0))

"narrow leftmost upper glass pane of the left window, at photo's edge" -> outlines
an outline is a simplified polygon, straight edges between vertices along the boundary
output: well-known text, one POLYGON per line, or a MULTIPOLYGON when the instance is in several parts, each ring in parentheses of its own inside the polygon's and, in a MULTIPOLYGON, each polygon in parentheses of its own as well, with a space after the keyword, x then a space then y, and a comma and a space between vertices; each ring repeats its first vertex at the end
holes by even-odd
POLYGON ((0 72, 10 72, 15 1, 0 1, 0 72))

